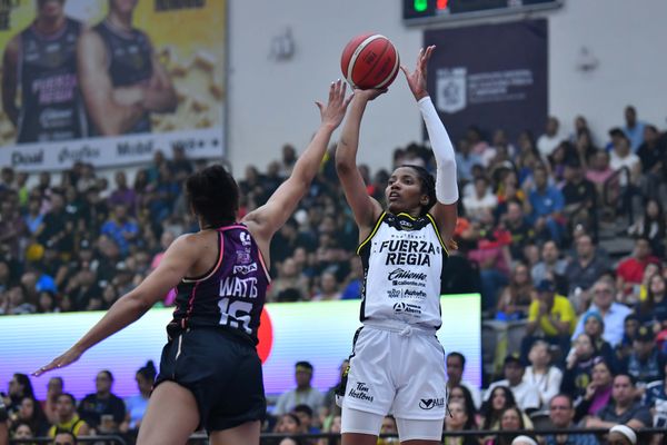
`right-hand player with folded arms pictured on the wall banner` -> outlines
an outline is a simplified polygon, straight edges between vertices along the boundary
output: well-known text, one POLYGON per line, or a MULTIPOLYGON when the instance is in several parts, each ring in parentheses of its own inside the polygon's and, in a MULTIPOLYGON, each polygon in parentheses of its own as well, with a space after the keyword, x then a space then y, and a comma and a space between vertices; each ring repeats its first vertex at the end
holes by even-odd
POLYGON ((109 0, 109 14, 79 39, 79 79, 96 135, 150 132, 151 112, 177 98, 149 37, 132 27, 138 0, 109 0))

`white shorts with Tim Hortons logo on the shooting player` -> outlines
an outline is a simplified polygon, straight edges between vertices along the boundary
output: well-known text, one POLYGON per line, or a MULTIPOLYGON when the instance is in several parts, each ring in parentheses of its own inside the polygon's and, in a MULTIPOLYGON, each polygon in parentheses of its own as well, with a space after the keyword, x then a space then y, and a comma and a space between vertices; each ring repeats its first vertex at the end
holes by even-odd
POLYGON ((435 334, 365 326, 350 357, 342 407, 397 419, 444 419, 446 383, 445 350, 435 334))

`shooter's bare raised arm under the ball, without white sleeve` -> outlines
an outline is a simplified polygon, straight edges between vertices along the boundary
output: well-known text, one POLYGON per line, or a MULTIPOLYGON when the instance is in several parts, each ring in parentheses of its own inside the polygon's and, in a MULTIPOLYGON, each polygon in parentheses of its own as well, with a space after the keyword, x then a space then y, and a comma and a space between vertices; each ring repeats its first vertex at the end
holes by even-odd
POLYGON ((368 236, 376 219, 382 214, 378 201, 368 196, 366 184, 357 168, 357 151, 359 149, 359 132, 361 119, 369 100, 387 92, 387 90, 356 90, 355 98, 350 105, 350 113, 342 127, 342 135, 336 148, 336 172, 340 178, 342 190, 348 205, 352 209, 357 226, 359 226, 359 239, 368 236))

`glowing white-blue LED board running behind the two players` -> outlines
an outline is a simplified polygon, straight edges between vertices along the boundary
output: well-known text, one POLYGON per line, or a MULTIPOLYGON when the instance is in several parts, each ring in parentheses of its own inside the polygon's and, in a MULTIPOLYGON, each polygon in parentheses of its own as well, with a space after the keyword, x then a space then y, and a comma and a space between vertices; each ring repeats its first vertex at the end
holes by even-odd
MULTIPOLYGON (((442 296, 442 327, 438 330, 446 352, 465 355, 464 379, 477 387, 481 384, 479 299, 479 294, 442 296)), ((340 364, 350 355, 352 337, 360 326, 359 304, 346 300, 266 305, 258 354, 263 363, 267 394, 279 395, 295 387, 295 364, 299 360, 313 365, 312 385, 319 390, 335 386, 340 364)), ((61 376, 64 389, 80 399, 94 392, 94 376, 101 369, 113 373, 117 395, 137 394, 135 374, 148 359, 159 364, 171 313, 172 309, 152 309, 96 345, 76 364, 44 377, 31 377, 37 397, 43 399, 50 376, 61 376)), ((0 317, 0 388, 7 388, 14 373, 28 374, 64 352, 102 315, 96 312, 0 317)))

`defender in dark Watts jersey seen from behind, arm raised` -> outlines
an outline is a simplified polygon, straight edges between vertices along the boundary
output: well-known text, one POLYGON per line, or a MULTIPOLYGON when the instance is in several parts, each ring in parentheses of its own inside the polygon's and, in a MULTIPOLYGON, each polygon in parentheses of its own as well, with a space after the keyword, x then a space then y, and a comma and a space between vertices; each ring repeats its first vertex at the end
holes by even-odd
POLYGON ((255 344, 269 283, 269 245, 319 169, 350 101, 345 91, 340 80, 331 83, 327 106, 317 102, 321 125, 292 174, 240 222, 238 187, 221 166, 188 178, 187 196, 201 230, 173 241, 152 274, 67 353, 34 374, 76 362, 176 287, 169 343, 137 443, 182 445, 201 425, 213 445, 258 444, 266 400, 255 344))

